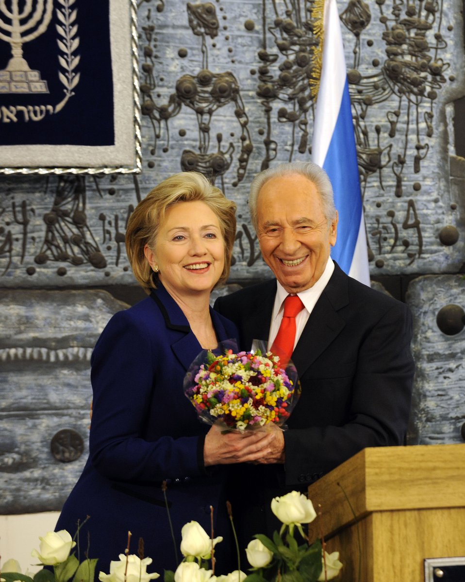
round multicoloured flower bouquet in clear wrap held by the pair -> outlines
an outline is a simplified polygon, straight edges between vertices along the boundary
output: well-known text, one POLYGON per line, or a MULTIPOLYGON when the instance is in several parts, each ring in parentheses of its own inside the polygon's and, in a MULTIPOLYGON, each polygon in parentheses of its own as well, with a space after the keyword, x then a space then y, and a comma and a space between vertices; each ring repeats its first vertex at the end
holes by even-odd
POLYGON ((287 421, 300 395, 297 372, 292 362, 282 368, 278 356, 262 350, 237 352, 223 344, 196 357, 184 392, 201 420, 241 432, 287 421))

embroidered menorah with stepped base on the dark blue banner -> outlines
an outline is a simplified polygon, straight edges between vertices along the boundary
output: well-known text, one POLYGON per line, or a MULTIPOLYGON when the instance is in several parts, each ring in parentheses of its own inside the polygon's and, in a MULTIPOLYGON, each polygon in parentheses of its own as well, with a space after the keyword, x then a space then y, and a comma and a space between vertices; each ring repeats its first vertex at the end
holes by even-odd
POLYGON ((0 93, 48 93, 47 81, 41 80, 38 70, 31 70, 23 57, 23 44, 34 40, 47 30, 52 18, 53 0, 24 0, 22 10, 19 0, 0 0, 0 39, 9 42, 12 58, 0 70, 0 93))

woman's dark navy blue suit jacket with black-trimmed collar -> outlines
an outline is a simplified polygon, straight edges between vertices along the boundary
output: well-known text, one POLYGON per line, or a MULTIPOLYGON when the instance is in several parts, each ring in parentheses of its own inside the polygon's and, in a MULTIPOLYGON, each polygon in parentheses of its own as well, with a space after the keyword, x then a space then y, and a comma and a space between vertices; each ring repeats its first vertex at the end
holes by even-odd
MULTIPOLYGON (((237 336, 231 322, 211 314, 219 340, 237 336)), ((176 568, 163 480, 168 481, 180 558, 181 527, 195 520, 209 532, 210 505, 215 535, 228 537, 226 469, 207 472, 203 467, 209 427, 183 393, 184 375, 201 350, 185 315, 161 285, 115 314, 96 343, 90 455, 56 528, 74 535, 77 520, 90 516, 81 531, 81 548, 87 546, 88 531, 90 557, 100 558, 97 575, 99 570, 108 573, 110 560, 124 553, 128 530, 133 534, 130 553, 137 553, 138 539, 144 539, 144 553, 153 559, 149 572, 176 568)), ((230 568, 226 560, 219 559, 218 565, 223 571, 230 568)))

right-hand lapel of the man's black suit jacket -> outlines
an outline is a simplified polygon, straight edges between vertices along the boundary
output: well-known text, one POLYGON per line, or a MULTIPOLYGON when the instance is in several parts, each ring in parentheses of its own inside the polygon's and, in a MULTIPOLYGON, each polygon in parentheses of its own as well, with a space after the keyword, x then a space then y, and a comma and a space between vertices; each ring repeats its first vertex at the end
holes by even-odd
POLYGON ((347 275, 335 264, 334 273, 314 306, 292 353, 292 361, 299 376, 305 373, 344 328, 345 320, 338 314, 338 310, 348 303, 347 275))

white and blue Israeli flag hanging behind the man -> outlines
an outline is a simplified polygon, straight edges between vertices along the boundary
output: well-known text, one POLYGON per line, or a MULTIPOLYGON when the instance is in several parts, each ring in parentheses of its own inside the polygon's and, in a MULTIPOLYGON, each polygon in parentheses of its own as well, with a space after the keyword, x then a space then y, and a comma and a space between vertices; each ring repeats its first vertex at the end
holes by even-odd
POLYGON ((331 257, 349 276, 370 285, 357 152, 336 0, 325 0, 323 26, 312 160, 330 177, 339 212, 337 242, 331 257))

